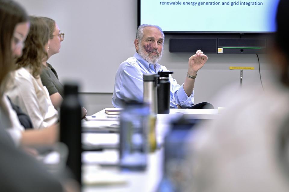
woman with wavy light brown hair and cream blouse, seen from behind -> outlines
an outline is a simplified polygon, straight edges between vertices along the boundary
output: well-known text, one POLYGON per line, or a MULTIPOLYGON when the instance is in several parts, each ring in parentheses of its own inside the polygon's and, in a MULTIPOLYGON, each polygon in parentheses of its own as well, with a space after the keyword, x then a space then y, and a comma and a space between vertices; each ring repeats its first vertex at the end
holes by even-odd
POLYGON ((42 61, 48 58, 48 40, 49 29, 45 21, 30 17, 30 32, 7 91, 11 101, 30 117, 34 129, 47 128, 58 122, 57 110, 39 76, 42 61))

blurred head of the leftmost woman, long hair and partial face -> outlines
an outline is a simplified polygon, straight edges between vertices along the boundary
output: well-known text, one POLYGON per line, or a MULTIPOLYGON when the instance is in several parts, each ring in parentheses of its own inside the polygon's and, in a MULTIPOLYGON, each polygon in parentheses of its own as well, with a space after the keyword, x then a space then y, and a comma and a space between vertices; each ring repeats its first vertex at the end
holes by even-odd
POLYGON ((6 88, 7 76, 15 68, 14 57, 22 55, 29 31, 25 10, 16 2, 0 1, 0 97, 6 88))

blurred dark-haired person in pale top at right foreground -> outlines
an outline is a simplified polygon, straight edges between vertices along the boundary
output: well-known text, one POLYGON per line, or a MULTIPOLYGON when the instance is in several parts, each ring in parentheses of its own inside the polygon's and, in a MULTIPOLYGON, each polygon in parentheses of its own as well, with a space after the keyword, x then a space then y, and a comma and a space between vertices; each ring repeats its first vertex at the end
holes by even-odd
POLYGON ((277 73, 264 92, 258 85, 230 95, 219 119, 191 135, 183 191, 289 191, 289 135, 282 134, 289 130, 288 10, 281 0, 269 54, 277 73))

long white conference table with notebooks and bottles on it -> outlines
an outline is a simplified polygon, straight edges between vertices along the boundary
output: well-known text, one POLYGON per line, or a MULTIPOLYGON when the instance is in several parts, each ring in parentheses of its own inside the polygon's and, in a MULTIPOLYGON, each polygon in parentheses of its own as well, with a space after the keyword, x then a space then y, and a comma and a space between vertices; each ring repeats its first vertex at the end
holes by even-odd
POLYGON ((124 171, 118 166, 119 115, 107 115, 105 108, 82 120, 82 191, 155 192, 163 176, 163 141, 170 122, 178 118, 216 119, 219 110, 170 109, 157 114, 157 150, 148 154, 144 171, 124 171))

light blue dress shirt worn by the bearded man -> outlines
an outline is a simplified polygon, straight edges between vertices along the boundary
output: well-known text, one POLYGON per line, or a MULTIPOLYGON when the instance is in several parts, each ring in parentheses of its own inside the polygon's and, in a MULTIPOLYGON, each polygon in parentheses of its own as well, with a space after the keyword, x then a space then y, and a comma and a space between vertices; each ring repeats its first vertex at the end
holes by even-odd
MULTIPOLYGON (((114 90, 112 104, 114 107, 121 108, 122 100, 130 99, 143 101, 143 74, 155 74, 159 71, 169 71, 165 66, 148 63, 136 52, 133 57, 128 58, 120 64, 114 80, 114 90)), ((170 108, 178 108, 179 104, 183 108, 191 107, 194 104, 194 91, 188 97, 183 85, 179 85, 176 79, 169 75, 171 83, 170 108)))

